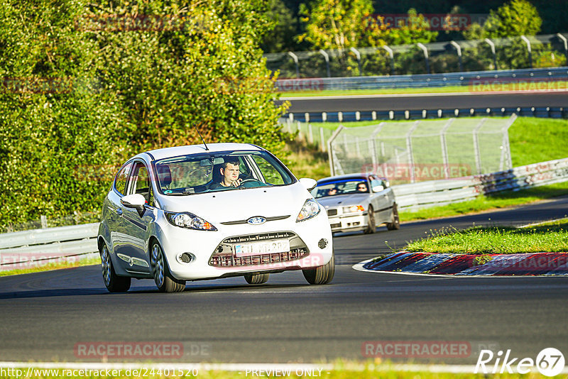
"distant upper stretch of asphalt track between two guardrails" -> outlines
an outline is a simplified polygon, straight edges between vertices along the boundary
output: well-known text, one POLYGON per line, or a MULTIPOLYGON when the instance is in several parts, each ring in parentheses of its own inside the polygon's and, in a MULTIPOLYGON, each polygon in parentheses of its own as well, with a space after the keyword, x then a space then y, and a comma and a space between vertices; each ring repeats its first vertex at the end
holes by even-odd
MULTIPOLYGON (((281 99, 288 99, 282 97, 281 99)), ((568 92, 389 94, 289 98, 289 112, 404 111, 525 106, 568 106, 568 92)), ((281 101, 280 101, 281 102, 281 101)))

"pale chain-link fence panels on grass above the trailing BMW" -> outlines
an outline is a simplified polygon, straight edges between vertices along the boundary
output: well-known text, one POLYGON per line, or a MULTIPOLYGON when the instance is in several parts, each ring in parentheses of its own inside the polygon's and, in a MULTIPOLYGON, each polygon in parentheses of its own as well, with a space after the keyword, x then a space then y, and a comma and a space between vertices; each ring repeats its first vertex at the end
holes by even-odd
POLYGON ((516 117, 339 126, 328 141, 329 165, 332 175, 375 172, 393 184, 508 170, 508 128, 516 117))

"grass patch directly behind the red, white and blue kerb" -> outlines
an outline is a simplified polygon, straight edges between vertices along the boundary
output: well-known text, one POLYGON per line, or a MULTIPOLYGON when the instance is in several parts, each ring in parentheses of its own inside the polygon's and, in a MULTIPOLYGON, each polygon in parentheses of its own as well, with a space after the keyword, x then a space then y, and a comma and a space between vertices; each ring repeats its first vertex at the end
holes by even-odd
POLYGON ((568 251, 568 219, 525 228, 474 227, 433 232, 427 239, 405 246, 429 253, 515 254, 568 251))

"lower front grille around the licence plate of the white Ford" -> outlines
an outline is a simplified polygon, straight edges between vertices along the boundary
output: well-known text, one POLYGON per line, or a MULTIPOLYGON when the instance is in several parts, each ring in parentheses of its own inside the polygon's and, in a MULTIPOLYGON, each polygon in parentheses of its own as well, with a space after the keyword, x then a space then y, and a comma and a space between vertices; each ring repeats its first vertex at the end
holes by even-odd
POLYGON ((278 231, 273 233, 250 234, 225 238, 209 258, 209 265, 214 267, 243 267, 249 265, 262 265, 268 263, 290 262, 310 255, 304 241, 291 231, 278 231), (290 251, 283 253, 266 253, 255 256, 237 257, 234 254, 234 245, 237 243, 270 241, 275 239, 290 240, 290 251))

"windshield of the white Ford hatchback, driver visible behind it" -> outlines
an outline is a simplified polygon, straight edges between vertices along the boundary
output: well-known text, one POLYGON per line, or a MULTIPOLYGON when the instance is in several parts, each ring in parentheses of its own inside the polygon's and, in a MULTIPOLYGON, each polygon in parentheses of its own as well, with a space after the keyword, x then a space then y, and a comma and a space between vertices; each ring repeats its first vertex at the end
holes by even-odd
POLYGON ((288 169, 264 151, 200 153, 156 160, 158 191, 189 195, 252 187, 290 185, 288 169))

